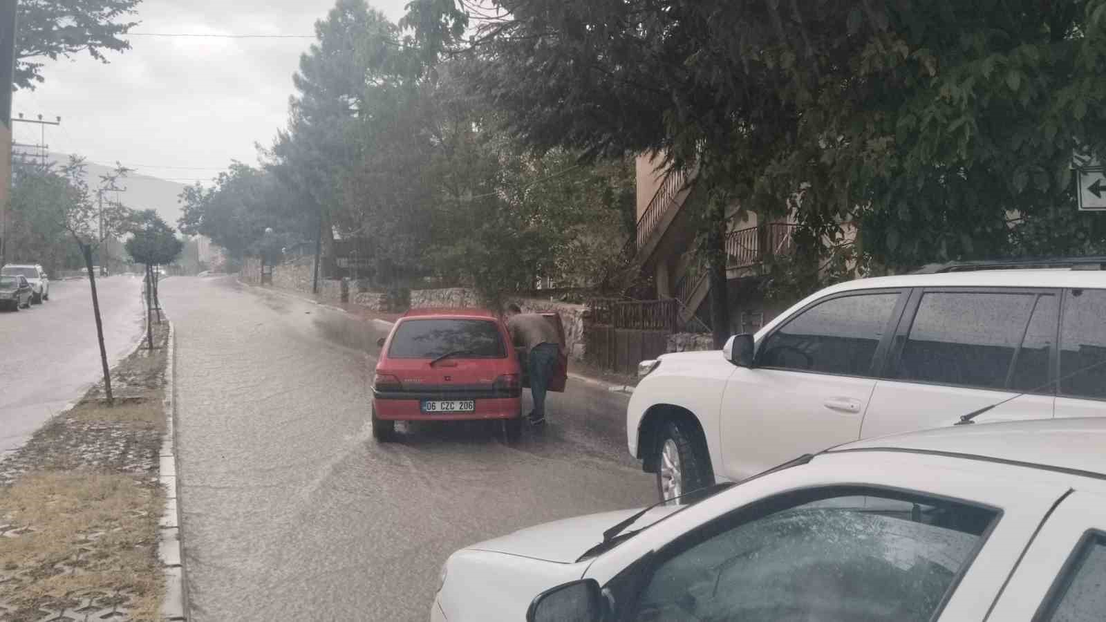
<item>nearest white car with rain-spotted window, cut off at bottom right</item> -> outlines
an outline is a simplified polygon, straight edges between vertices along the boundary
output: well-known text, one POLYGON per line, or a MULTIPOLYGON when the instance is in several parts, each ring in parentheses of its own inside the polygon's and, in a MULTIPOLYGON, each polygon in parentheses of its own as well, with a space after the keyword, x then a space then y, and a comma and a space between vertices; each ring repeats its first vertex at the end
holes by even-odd
POLYGON ((1104 448, 1106 418, 857 442, 457 551, 430 620, 1100 622, 1104 448))

